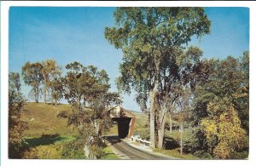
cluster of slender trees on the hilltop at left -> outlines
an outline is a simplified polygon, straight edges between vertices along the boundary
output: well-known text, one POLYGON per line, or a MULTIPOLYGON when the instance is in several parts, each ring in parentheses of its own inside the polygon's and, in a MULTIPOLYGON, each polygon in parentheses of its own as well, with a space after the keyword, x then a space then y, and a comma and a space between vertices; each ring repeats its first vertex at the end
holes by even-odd
POLYGON ((61 67, 55 60, 45 60, 41 63, 26 62, 22 67, 22 77, 24 82, 32 87, 31 93, 37 103, 40 94, 44 94, 45 104, 48 96, 52 103, 55 100, 55 104, 62 98, 61 67))

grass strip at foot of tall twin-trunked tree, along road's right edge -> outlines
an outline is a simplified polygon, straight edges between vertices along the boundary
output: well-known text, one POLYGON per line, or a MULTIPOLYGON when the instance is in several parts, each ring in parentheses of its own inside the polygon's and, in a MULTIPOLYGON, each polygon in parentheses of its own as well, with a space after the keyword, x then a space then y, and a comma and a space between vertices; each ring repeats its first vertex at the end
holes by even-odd
POLYGON ((172 149, 172 150, 160 150, 160 149, 154 149, 154 152, 160 152, 162 154, 166 154, 170 157, 178 157, 182 159, 200 159, 198 157, 195 157, 191 154, 180 154, 179 149, 172 149))

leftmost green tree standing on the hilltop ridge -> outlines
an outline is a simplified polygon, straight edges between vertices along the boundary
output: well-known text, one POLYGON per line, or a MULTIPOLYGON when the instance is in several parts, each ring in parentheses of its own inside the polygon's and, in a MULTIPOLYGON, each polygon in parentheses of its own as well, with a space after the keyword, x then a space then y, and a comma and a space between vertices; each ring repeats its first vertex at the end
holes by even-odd
POLYGON ((43 81, 42 75, 43 66, 41 63, 30 63, 26 62, 24 66, 22 66, 22 77, 24 82, 32 86, 32 94, 34 95, 35 101, 38 103, 39 94, 40 94, 40 84, 43 81))

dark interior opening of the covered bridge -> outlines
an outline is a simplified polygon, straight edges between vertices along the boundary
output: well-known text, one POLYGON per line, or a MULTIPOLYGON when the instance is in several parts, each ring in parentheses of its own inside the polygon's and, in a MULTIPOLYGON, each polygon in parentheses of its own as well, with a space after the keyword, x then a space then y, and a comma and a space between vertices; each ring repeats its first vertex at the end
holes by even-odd
POLYGON ((113 117, 113 121, 118 123, 119 138, 125 138, 129 134, 131 117, 113 117))

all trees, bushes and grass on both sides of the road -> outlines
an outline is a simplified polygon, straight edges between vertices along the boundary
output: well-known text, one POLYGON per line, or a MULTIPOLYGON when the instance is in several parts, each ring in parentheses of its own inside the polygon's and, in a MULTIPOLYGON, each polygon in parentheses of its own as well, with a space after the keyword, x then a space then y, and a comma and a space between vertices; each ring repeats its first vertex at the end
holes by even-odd
POLYGON ((110 90, 108 73, 77 61, 26 62, 9 72, 9 157, 115 159, 102 135, 116 134, 109 108, 136 93, 143 113, 134 133, 155 152, 181 158, 247 158, 249 52, 205 59, 189 45, 211 31, 203 8, 117 8, 105 38, 123 61, 110 90), (26 102, 20 77, 31 88, 26 102), (43 96, 44 103, 39 103, 43 96), (67 100, 68 105, 60 104, 67 100))

